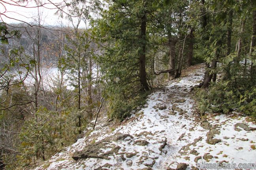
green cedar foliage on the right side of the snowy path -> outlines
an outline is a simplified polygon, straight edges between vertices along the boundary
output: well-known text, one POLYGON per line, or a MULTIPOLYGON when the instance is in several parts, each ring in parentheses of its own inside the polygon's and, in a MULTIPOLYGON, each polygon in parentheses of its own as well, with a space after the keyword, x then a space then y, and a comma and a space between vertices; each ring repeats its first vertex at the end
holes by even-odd
POLYGON ((218 61, 216 68, 210 67, 207 71, 209 74, 218 73, 219 78, 216 83, 210 83, 209 89, 196 91, 195 99, 201 113, 208 111, 228 114, 232 111, 241 111, 255 119, 256 75, 250 63, 255 62, 256 55, 255 47, 251 49, 252 54, 248 55, 252 33, 252 23, 248 22, 252 20, 252 6, 249 4, 236 1, 222 3, 205 1, 204 6, 201 6, 205 11, 208 10, 208 14, 205 16, 207 21, 205 27, 201 26, 197 30, 196 38, 203 42, 197 42, 199 48, 196 48, 195 54, 201 55, 210 65, 213 60, 218 61), (229 18, 230 11, 232 11, 232 18, 229 18), (229 31, 230 33, 232 31, 232 36, 238 37, 232 37, 229 40, 231 47, 228 52, 226 33, 229 28, 232 29, 229 31), (242 42, 242 48, 238 53, 235 48, 239 41, 242 42))

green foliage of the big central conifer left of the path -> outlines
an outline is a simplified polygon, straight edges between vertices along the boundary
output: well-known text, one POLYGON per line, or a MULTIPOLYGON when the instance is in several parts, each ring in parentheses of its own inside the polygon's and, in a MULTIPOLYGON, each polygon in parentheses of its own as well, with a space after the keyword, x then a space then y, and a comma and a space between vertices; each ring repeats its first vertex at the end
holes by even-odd
MULTIPOLYGON (((148 32, 146 42, 141 38, 141 18, 145 11, 155 11, 157 6, 154 1, 113 1, 108 10, 102 12, 102 18, 94 22, 95 39, 107 44, 104 44, 104 55, 95 56, 95 60, 104 75, 104 95, 111 118, 124 120, 144 98, 140 93, 139 56, 143 53, 141 44, 148 48, 150 41, 148 32)), ((146 15, 151 20, 153 15, 146 15)), ((151 58, 146 55, 146 70, 149 71, 151 58)), ((150 76, 147 75, 149 80, 150 76)))

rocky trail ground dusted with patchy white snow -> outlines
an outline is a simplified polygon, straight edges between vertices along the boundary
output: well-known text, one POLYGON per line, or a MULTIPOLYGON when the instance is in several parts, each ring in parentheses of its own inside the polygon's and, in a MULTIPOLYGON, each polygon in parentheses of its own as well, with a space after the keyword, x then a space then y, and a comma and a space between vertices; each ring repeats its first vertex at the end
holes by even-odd
POLYGON ((190 88, 203 79, 203 67, 149 95, 121 124, 98 124, 36 170, 196 170, 203 163, 256 163, 256 125, 247 117, 199 120, 190 88))

